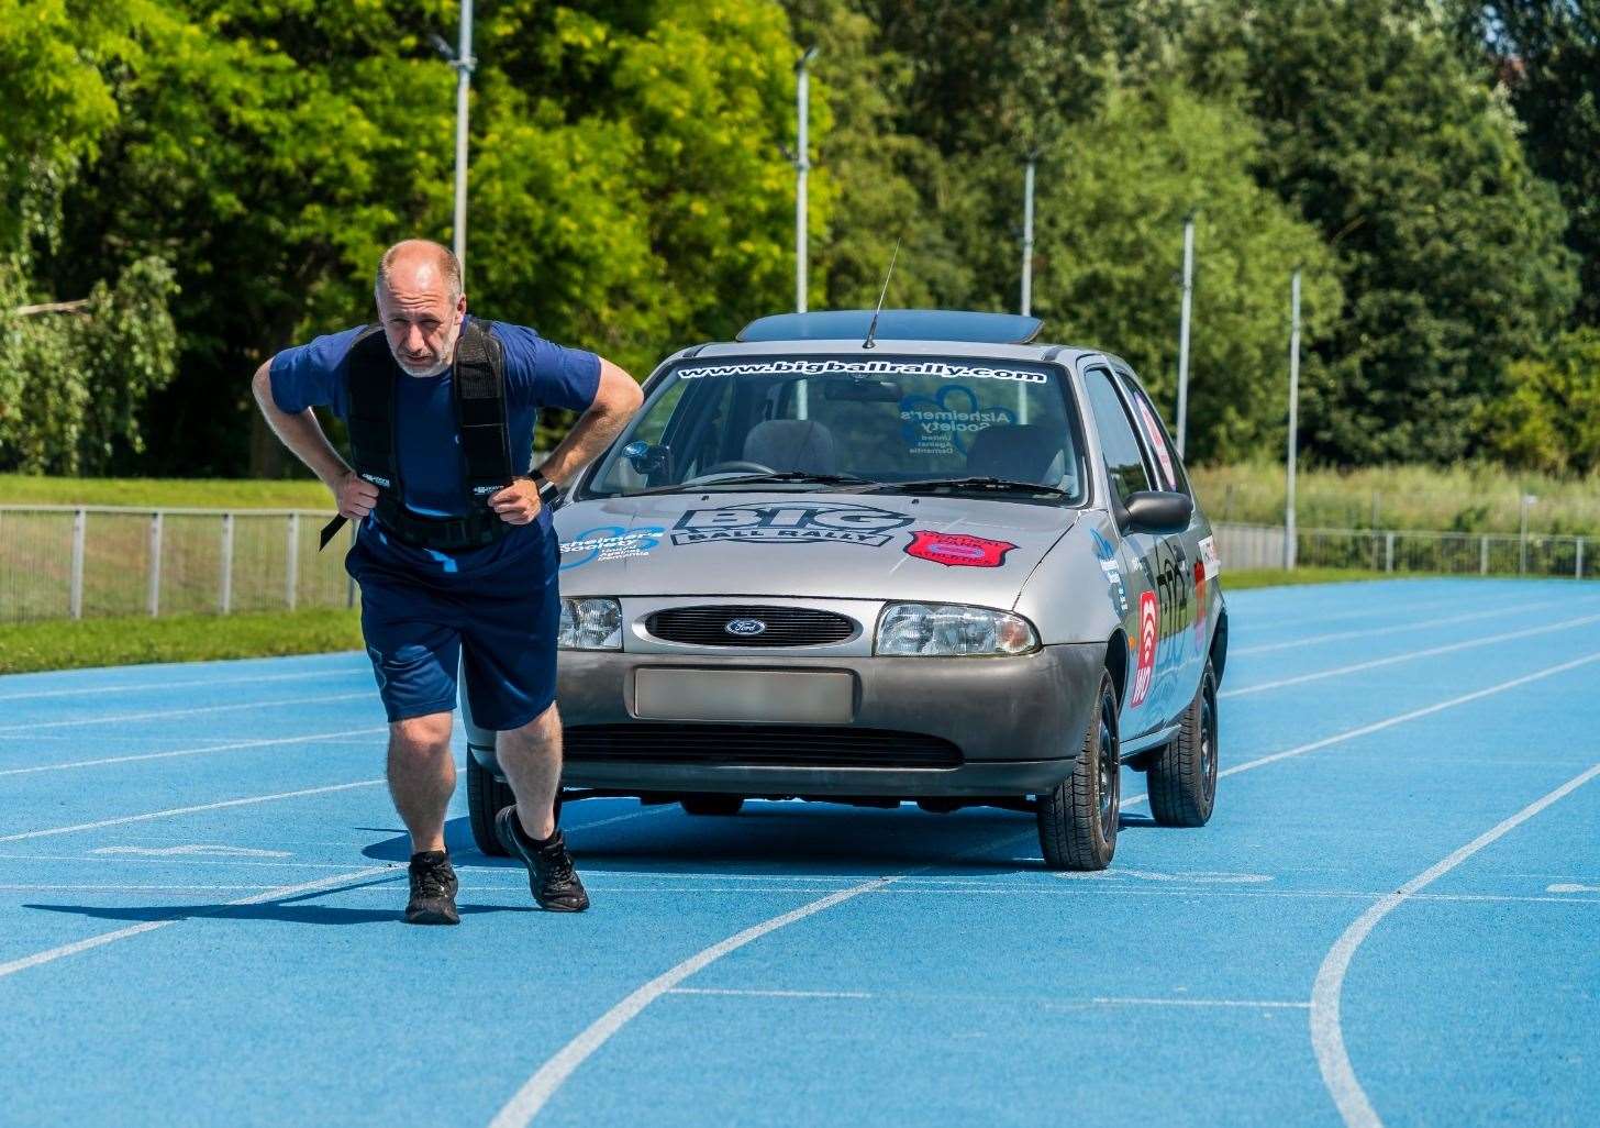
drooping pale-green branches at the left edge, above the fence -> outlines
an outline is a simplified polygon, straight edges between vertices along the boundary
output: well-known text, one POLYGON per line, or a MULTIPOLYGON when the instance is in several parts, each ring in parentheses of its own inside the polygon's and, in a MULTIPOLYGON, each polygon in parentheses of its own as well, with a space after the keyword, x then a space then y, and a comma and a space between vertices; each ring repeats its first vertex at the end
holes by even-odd
POLYGON ((75 309, 19 314, 18 272, 0 267, 0 469, 98 474, 142 450, 144 403, 173 378, 173 290, 146 258, 75 309))

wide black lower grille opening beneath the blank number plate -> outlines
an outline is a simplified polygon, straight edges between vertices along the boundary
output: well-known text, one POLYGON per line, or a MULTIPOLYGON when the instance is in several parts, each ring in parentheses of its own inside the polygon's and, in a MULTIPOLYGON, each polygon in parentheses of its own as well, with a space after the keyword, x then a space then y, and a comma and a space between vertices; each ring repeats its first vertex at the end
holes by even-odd
POLYGON ((568 760, 794 768, 958 768, 962 750, 922 733, 834 725, 574 725, 568 760))

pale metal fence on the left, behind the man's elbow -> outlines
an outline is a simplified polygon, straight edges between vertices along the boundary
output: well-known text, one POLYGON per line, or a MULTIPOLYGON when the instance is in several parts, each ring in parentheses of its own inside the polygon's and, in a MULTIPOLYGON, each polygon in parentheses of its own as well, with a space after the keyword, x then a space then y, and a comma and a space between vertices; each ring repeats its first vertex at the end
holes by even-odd
POLYGON ((0 506, 0 622, 354 606, 328 514, 0 506))

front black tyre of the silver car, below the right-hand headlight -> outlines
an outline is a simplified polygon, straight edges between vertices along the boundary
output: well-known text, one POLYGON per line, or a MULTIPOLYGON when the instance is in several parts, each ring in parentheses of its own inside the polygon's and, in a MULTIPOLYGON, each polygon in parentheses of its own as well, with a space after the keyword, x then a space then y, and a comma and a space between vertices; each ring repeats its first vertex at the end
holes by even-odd
POLYGON ((1117 691, 1101 674, 1083 749, 1072 774, 1038 797, 1038 845, 1050 869, 1098 870, 1117 853, 1122 760, 1117 738, 1117 691))

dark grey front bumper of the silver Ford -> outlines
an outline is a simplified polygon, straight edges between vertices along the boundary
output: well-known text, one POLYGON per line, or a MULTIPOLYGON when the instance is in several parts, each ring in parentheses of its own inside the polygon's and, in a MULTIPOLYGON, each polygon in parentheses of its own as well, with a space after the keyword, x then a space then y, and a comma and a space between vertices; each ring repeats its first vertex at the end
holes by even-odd
MULTIPOLYGON (((1045 646, 1019 658, 774 658, 678 656, 619 651, 562 651, 557 701, 570 754, 563 787, 621 794, 672 795, 733 792, 763 797, 978 798, 1048 790, 1072 773, 1090 712, 1094 707, 1104 646, 1045 646), (830 670, 854 680, 850 728, 880 734, 917 734, 947 741, 957 750, 950 766, 872 766, 707 762, 661 755, 608 758, 594 741, 576 741, 590 726, 642 725, 634 710, 634 677, 640 667, 699 670, 830 670)), ((654 722, 659 726, 659 722, 654 722)), ((762 725, 741 726, 760 733, 762 725)), ((800 726, 803 728, 803 726, 800 726)), ((682 746, 694 747, 696 723, 674 722, 682 746)), ((613 730, 614 731, 614 730, 613 730)), ((706 730, 702 730, 704 733, 706 730)), ((770 730, 776 733, 778 730, 770 730)), ((795 726, 786 730, 794 734, 795 726)), ((829 730, 811 730, 826 746, 829 730)), ((838 730, 832 730, 838 731, 838 730)), ((467 718, 470 754, 496 770, 491 733, 467 718)))

